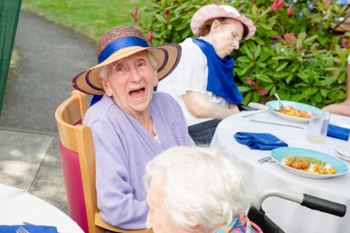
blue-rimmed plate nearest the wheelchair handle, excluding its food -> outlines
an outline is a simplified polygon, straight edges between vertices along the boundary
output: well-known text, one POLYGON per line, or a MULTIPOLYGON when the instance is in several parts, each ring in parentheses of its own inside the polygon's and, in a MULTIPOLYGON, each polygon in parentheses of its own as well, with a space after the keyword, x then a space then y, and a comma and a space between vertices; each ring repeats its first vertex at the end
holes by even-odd
POLYGON ((346 164, 342 162, 340 159, 319 151, 313 151, 309 149, 302 149, 298 147, 279 147, 271 151, 271 157, 273 160, 277 162, 277 164, 281 165, 287 171, 303 177, 309 177, 314 179, 325 179, 325 178, 344 175, 347 171, 346 164), (306 156, 306 157, 316 158, 317 160, 321 160, 322 162, 326 163, 326 165, 324 166, 326 170, 328 170, 329 167, 333 166, 337 172, 334 174, 313 173, 311 171, 313 171, 314 164, 310 165, 308 172, 304 172, 302 170, 287 166, 285 164, 287 162, 287 157, 293 157, 293 156, 298 156, 298 157, 306 156))

